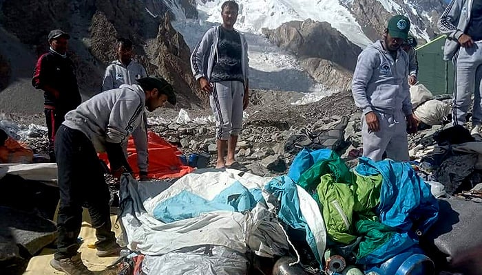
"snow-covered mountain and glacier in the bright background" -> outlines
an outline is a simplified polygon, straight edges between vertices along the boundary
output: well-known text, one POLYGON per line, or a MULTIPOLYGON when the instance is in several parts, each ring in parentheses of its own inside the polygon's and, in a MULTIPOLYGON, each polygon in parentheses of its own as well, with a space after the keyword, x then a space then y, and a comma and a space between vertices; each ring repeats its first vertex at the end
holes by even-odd
MULTIPOLYGON (((191 50, 209 27, 222 21, 220 10, 224 0, 163 1, 176 18, 173 21, 174 28, 184 36, 191 50), (194 7, 197 14, 193 12, 194 7)), ((364 48, 372 41, 379 39, 390 15, 404 14, 412 21, 412 34, 424 43, 436 36, 435 24, 446 5, 443 0, 238 0, 237 2, 240 10, 235 28, 244 32, 249 41, 251 86, 282 91, 312 92, 310 95, 312 99, 331 94, 339 88, 317 83, 313 76, 306 72, 316 68, 306 69, 301 65, 301 58, 313 56, 295 56, 293 52, 285 52, 275 47, 262 36, 264 28, 276 29, 286 22, 306 19, 328 22, 342 36, 346 36, 346 39, 364 48)), ((149 12, 156 16, 156 11, 149 10, 149 12)), ((313 47, 323 47, 323 45, 320 43, 313 47)), ((318 71, 326 71, 326 69, 318 69, 318 71)))

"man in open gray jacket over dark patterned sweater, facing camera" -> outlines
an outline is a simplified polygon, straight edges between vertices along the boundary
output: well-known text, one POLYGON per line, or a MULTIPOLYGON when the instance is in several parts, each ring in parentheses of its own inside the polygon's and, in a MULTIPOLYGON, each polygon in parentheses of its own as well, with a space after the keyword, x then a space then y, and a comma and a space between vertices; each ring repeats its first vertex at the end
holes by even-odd
POLYGON ((242 168, 235 148, 242 128, 242 111, 249 102, 248 43, 233 26, 238 19, 235 1, 221 5, 222 25, 209 29, 191 54, 191 69, 216 117, 216 168, 242 168), (224 152, 227 149, 227 158, 224 152))

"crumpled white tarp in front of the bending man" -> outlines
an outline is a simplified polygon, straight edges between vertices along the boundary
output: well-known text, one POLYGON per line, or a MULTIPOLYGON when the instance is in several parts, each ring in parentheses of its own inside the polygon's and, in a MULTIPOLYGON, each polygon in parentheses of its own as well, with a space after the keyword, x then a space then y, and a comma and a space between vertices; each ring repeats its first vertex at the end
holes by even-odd
MULTIPOLYGON (((181 177, 171 186, 165 182, 138 183, 130 177, 121 181, 121 214, 128 248, 146 255, 163 255, 199 245, 224 246, 240 253, 248 250, 260 256, 283 255, 289 244, 272 212, 257 203, 245 212, 213 211, 189 219, 163 223, 154 217, 159 203, 191 191, 213 199, 235 183, 262 188, 266 179, 239 170, 198 170, 181 177), (163 190, 165 189, 165 190, 163 190), (159 191, 163 192, 160 192, 159 191)), ((190 209, 189 209, 190 210, 190 209)))

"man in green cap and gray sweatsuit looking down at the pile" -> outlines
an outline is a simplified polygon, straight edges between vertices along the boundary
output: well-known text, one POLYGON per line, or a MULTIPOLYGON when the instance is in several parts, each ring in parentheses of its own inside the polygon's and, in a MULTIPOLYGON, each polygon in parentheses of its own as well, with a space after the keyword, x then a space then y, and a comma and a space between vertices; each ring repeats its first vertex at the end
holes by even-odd
POLYGON ((409 30, 408 18, 392 17, 384 39, 359 54, 353 74, 353 98, 363 111, 363 155, 375 161, 385 152, 395 161, 408 161, 407 131, 417 131, 407 79, 409 58, 401 50, 409 30))

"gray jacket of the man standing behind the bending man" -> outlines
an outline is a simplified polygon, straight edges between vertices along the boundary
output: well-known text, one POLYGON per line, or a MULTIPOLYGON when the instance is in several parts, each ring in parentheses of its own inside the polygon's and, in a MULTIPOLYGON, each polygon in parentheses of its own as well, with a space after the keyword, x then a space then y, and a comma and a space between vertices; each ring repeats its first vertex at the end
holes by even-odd
POLYGON ((121 61, 112 61, 105 69, 102 91, 116 89, 123 84, 136 84, 136 79, 147 77, 147 72, 143 65, 134 59, 125 67, 121 61))

